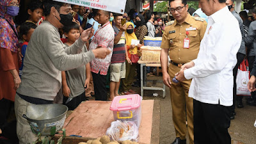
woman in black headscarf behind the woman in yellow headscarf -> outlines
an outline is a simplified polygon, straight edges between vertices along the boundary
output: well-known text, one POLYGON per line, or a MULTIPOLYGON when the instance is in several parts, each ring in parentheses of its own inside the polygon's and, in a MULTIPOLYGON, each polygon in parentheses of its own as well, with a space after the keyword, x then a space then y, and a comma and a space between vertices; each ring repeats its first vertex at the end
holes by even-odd
POLYGON ((137 36, 138 40, 140 40, 140 44, 144 44, 143 38, 145 35, 148 35, 148 28, 146 26, 143 15, 139 13, 138 15, 136 15, 135 19, 136 21, 134 24, 137 28, 135 31, 135 35, 137 36))

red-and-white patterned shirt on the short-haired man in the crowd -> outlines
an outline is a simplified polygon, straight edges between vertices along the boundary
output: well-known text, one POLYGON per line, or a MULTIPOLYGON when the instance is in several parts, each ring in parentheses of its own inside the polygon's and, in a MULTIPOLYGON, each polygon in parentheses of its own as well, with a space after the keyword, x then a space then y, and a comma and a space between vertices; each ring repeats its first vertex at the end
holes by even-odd
POLYGON ((111 61, 112 52, 113 52, 113 45, 114 45, 114 38, 115 38, 115 32, 107 22, 103 26, 101 26, 99 29, 97 29, 93 39, 92 43, 90 44, 89 49, 93 50, 97 47, 106 47, 109 50, 111 50, 111 53, 106 56, 104 59, 95 58, 93 61, 90 62, 91 71, 98 74, 100 72, 100 75, 107 75, 108 74, 108 67, 111 61))

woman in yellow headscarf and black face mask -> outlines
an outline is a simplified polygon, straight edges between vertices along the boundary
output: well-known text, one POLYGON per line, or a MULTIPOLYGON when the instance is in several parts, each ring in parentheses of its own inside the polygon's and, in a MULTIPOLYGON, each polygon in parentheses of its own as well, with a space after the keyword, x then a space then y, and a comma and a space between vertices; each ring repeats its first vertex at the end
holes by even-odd
POLYGON ((137 36, 134 34, 134 25, 132 22, 126 23, 127 30, 125 31, 125 40, 126 40, 126 47, 129 60, 125 61, 125 78, 122 80, 123 91, 125 95, 135 93, 131 90, 131 84, 133 82, 135 76, 135 68, 137 67, 136 63, 131 62, 132 54, 138 54, 138 48, 141 47, 141 44, 138 45, 131 45, 132 39, 138 40, 137 36))

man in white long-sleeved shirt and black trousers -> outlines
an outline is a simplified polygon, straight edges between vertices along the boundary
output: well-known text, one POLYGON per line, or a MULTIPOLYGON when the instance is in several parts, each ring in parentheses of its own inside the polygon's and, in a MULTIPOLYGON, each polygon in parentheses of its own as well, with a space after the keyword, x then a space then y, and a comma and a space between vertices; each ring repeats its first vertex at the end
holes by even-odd
POLYGON ((194 99, 195 144, 231 144, 228 134, 233 104, 233 74, 241 31, 225 0, 200 0, 209 16, 198 57, 176 74, 178 81, 192 79, 189 97, 194 99))

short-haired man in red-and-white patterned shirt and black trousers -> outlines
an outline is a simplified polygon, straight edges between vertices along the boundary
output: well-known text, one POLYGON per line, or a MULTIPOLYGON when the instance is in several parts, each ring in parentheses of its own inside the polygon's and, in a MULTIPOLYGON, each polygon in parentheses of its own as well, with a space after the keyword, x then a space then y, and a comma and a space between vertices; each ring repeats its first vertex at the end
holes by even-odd
POLYGON ((108 68, 111 62, 115 38, 115 32, 109 23, 109 18, 109 12, 98 10, 96 19, 101 26, 97 29, 89 47, 90 50, 97 49, 97 47, 106 47, 106 49, 111 50, 111 53, 105 59, 95 58, 90 62, 95 100, 107 100, 106 75, 108 74, 108 68))

